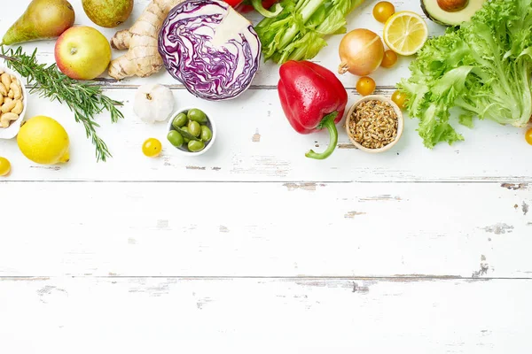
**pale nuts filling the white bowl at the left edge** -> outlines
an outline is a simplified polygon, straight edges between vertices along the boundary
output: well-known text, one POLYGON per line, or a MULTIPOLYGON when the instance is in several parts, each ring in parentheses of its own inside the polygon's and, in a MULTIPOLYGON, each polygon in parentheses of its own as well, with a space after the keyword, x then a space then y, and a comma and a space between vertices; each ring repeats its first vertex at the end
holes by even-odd
POLYGON ((24 110, 22 87, 16 76, 0 69, 0 127, 9 127, 24 110))

